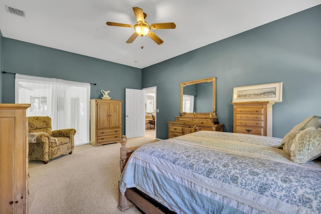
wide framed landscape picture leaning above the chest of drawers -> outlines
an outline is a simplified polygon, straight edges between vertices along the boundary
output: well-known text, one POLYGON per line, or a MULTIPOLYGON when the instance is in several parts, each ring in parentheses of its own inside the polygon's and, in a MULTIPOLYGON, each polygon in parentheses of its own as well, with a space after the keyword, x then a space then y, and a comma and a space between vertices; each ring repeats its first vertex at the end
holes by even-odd
POLYGON ((282 101, 283 82, 233 88, 232 102, 282 101))

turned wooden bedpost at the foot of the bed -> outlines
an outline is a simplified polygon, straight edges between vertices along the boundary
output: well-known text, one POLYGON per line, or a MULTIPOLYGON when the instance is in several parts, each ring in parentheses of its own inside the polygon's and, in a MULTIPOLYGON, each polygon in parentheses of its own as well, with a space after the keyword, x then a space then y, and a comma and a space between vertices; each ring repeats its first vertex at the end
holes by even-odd
MULTIPOLYGON (((120 137, 120 173, 122 172, 122 170, 125 167, 126 161, 127 161, 127 148, 126 148, 126 143, 127 143, 127 137, 125 135, 122 135, 120 137)), ((128 204, 128 198, 125 196, 125 194, 121 194, 120 190, 119 190, 119 181, 118 181, 118 205, 117 205, 118 209, 120 209, 120 211, 123 211, 125 209, 129 208, 129 204, 128 204)))

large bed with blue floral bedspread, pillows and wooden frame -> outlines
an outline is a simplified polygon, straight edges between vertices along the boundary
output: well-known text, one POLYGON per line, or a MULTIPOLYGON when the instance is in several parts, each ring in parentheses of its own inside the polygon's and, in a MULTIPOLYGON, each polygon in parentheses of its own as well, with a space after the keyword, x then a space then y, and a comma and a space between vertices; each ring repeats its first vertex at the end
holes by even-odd
POLYGON ((321 129, 303 125, 284 139, 199 131, 129 150, 123 136, 118 208, 129 198, 146 213, 321 213, 321 129), (313 142, 307 159, 301 139, 313 142))

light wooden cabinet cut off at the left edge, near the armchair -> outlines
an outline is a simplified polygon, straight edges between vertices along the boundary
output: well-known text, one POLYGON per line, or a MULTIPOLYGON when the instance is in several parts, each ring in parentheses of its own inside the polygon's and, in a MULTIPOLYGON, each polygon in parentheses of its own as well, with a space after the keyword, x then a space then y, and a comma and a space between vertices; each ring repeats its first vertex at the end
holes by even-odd
POLYGON ((29 107, 0 103, 0 213, 28 213, 29 107))

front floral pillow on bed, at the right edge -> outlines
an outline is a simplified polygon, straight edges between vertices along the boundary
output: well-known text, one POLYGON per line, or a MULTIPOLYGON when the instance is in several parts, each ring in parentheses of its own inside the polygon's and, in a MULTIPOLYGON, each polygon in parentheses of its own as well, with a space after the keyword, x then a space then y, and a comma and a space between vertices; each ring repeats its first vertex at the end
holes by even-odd
POLYGON ((321 128, 308 127, 300 131, 290 149, 294 163, 306 163, 321 156, 321 128))

